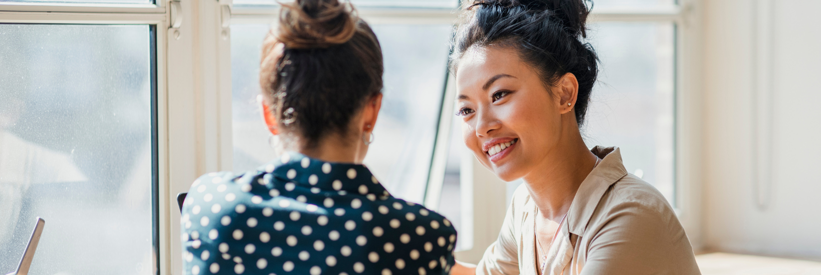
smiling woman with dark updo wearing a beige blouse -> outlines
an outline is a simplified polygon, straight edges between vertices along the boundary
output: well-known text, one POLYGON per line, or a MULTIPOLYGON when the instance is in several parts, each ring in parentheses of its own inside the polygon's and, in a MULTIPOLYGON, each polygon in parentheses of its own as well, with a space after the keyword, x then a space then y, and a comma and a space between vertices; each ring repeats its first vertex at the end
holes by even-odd
MULTIPOLYGON (((471 3, 469 3, 471 4, 471 3)), ((452 274, 699 274, 670 204, 580 135, 598 72, 583 0, 475 0, 452 54, 465 144, 523 179, 498 240, 452 274)))

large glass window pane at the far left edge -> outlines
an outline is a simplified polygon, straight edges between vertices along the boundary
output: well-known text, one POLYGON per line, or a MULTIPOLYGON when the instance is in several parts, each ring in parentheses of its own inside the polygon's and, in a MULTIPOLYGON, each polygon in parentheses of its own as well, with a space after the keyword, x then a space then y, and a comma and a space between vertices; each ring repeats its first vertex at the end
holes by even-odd
POLYGON ((154 273, 151 35, 0 24, 0 273, 154 273))

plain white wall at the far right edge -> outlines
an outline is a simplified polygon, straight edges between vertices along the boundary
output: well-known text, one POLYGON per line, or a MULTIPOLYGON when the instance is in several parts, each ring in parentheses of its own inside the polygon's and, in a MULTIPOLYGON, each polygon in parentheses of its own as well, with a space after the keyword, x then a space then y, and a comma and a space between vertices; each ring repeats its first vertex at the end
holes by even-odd
POLYGON ((821 1, 774 0, 771 13, 757 13, 759 3, 702 2, 704 246, 821 259, 821 1), (766 16, 773 16, 773 99, 756 105, 756 85, 767 80, 756 70, 769 68, 757 67, 767 64, 756 43, 768 35, 757 29, 767 26, 760 20, 766 16), (754 115, 762 107, 772 108, 765 208, 754 197, 756 138, 763 138, 754 133, 766 126, 754 115))

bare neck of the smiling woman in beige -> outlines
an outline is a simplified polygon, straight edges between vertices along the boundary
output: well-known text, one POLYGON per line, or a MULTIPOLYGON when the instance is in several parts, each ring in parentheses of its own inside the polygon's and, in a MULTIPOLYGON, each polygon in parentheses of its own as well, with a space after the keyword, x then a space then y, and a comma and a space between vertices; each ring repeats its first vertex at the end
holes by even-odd
POLYGON ((542 218, 561 222, 581 182, 593 171, 598 160, 587 149, 578 128, 567 131, 562 140, 537 167, 524 177, 530 197, 542 218))

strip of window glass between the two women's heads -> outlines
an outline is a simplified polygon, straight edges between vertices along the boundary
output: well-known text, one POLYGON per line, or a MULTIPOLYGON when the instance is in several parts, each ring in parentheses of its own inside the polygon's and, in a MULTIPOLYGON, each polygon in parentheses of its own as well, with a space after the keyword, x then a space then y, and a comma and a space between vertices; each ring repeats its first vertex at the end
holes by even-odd
POLYGON ((365 164, 394 195, 421 203, 428 183, 451 25, 374 25, 385 58, 377 140, 365 164))

